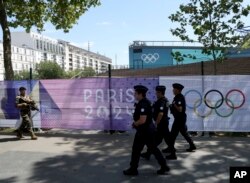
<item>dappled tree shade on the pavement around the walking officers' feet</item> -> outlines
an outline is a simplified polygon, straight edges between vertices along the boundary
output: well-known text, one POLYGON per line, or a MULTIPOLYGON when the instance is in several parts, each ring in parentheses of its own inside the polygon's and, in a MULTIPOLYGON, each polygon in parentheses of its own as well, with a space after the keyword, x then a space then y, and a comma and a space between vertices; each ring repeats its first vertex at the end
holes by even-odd
MULTIPOLYGON (((140 161, 138 177, 126 177, 132 137, 130 135, 90 134, 68 136, 64 142, 77 139, 74 154, 43 159, 35 163, 28 182, 228 182, 230 166, 249 165, 249 143, 246 138, 195 138, 199 149, 194 153, 178 153, 169 161, 170 175, 157 176, 156 160, 140 161)), ((186 142, 178 139, 178 147, 186 142)), ((57 144, 62 145, 62 144, 57 144)))

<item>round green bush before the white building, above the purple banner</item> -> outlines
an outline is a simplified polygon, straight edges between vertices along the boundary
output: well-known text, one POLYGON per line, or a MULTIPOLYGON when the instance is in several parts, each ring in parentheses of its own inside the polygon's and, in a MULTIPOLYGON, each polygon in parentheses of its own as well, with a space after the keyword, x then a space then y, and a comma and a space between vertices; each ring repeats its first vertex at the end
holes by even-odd
POLYGON ((44 61, 36 66, 39 79, 60 79, 64 77, 64 70, 56 63, 44 61))

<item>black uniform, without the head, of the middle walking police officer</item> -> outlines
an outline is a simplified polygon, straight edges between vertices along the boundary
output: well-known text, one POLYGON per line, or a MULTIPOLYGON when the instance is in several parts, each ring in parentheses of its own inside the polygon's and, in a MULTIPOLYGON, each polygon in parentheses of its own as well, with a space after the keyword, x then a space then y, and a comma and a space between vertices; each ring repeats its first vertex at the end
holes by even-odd
MULTIPOLYGON (((162 140, 166 142, 166 144, 169 146, 170 141, 170 131, 169 131, 169 117, 168 117, 168 107, 169 107, 169 101, 166 97, 162 97, 158 99, 153 104, 153 119, 154 121, 157 120, 157 117, 159 113, 163 113, 163 117, 160 121, 160 123, 157 125, 157 133, 156 133, 156 145, 158 146, 161 144, 162 140)), ((151 152, 149 149, 146 153, 143 153, 141 156, 145 159, 149 159, 151 155, 151 152)))

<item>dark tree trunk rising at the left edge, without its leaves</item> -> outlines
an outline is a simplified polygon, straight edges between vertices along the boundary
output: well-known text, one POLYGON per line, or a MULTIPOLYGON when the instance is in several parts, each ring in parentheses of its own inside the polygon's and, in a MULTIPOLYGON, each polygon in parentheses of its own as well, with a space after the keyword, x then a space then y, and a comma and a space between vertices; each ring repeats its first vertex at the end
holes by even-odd
POLYGON ((6 14, 4 0, 0 0, 0 24, 3 30, 3 57, 4 57, 5 80, 13 80, 14 71, 11 63, 11 36, 7 21, 7 14, 6 14))

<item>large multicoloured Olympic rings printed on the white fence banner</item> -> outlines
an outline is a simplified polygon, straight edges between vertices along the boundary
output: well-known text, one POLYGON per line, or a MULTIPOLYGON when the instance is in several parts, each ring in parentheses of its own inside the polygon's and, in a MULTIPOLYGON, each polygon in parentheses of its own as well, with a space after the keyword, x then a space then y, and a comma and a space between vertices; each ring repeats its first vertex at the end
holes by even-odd
POLYGON ((237 110, 237 109, 241 108, 242 106, 244 106, 245 101, 246 101, 246 97, 245 97, 244 93, 238 89, 232 89, 232 90, 228 91, 225 97, 223 96, 223 94, 219 90, 215 90, 215 89, 209 90, 208 92, 206 92, 204 97, 202 97, 201 93, 197 90, 189 90, 185 93, 185 95, 184 95, 185 98, 187 98, 187 96, 191 93, 197 94, 199 96, 199 98, 194 102, 193 106, 190 106, 188 104, 186 104, 186 106, 190 109, 193 109, 195 114, 201 118, 206 118, 206 117, 210 116, 212 114, 213 110, 220 117, 223 117, 223 118, 229 117, 233 114, 234 110, 237 110), (242 97, 242 101, 238 105, 235 105, 233 103, 233 101, 230 99, 231 94, 235 93, 235 92, 238 93, 238 95, 240 95, 242 97), (211 93, 216 93, 217 95, 220 96, 220 99, 217 100, 215 102, 215 104, 212 104, 211 100, 208 99, 208 96, 211 93), (202 105, 202 102, 204 102, 205 106, 208 107, 208 109, 209 109, 204 114, 200 114, 198 111, 198 107, 200 107, 202 105), (230 109, 227 114, 221 114, 218 110, 224 103, 230 109))

